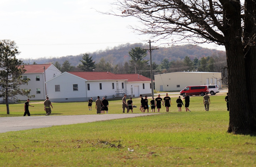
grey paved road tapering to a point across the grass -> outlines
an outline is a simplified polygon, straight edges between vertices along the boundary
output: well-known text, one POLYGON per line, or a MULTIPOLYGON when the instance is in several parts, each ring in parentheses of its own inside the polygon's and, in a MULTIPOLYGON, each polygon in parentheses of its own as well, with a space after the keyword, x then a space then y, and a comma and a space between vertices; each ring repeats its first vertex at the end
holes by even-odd
POLYGON ((45 127, 51 127, 54 125, 69 125, 69 124, 87 123, 87 122, 94 122, 94 121, 104 121, 104 120, 110 120, 110 119, 132 118, 132 117, 147 116, 152 114, 153 113, 1 117, 0 133, 8 132, 8 131, 35 129, 35 128, 45 128, 45 127))

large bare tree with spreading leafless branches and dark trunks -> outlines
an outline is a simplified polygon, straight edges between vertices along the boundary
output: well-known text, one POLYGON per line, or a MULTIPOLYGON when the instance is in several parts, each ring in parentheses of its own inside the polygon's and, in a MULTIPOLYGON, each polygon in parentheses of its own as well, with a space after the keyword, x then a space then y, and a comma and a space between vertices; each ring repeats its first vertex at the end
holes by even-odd
POLYGON ((118 0, 112 14, 136 17, 132 27, 173 43, 215 43, 225 46, 229 83, 228 132, 256 131, 256 2, 244 0, 118 0), (119 14, 117 14, 119 12, 119 14), (238 96, 239 95, 239 96, 238 96))

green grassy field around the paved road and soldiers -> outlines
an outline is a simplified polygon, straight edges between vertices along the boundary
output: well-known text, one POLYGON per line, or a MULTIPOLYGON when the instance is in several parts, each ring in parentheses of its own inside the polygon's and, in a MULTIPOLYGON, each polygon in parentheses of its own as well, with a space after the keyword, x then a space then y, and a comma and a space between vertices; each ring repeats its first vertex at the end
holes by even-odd
MULTIPOLYGON (((0 166, 256 166, 256 137, 226 132, 224 97, 211 96, 209 112, 201 96, 190 98, 192 112, 178 112, 173 95, 169 113, 0 133, 0 166)), ((111 114, 122 113, 120 99, 109 102, 111 114)), ((52 115, 95 114, 87 104, 53 103, 52 115)), ((11 104, 11 116, 23 105, 11 104)), ((41 102, 31 105, 31 116, 44 115, 41 102)))

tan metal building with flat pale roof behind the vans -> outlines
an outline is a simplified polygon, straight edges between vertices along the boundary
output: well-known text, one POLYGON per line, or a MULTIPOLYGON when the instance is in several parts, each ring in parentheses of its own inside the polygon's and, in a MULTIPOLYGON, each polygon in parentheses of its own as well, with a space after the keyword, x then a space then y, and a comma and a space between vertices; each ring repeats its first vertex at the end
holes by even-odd
POLYGON ((187 86, 212 84, 222 88, 220 72, 172 72, 154 76, 156 91, 181 91, 187 86))

